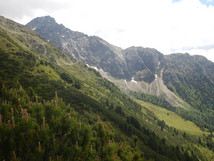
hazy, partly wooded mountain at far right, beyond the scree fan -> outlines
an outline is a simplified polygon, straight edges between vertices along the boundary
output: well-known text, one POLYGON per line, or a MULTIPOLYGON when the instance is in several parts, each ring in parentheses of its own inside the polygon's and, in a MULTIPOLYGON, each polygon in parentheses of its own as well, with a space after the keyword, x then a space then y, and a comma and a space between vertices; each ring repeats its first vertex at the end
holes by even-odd
POLYGON ((214 63, 202 56, 168 56, 163 79, 170 90, 200 110, 214 109, 214 63))

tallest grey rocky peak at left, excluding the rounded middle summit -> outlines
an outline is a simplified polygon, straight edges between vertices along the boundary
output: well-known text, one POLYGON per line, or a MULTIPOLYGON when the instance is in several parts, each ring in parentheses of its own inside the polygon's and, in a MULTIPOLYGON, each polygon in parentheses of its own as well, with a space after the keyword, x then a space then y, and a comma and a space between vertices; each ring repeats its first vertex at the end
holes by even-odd
POLYGON ((36 18, 27 26, 85 64, 101 68, 114 77, 129 76, 121 49, 99 37, 71 31, 49 16, 36 18))

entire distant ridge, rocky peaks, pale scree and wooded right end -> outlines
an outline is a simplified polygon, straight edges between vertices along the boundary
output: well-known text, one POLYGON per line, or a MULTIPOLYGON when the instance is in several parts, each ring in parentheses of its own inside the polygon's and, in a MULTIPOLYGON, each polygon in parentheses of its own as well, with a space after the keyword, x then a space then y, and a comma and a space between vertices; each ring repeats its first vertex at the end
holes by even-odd
POLYGON ((203 108, 213 109, 214 63, 202 56, 163 55, 155 49, 142 47, 122 50, 98 37, 71 31, 49 16, 36 18, 27 26, 77 60, 98 68, 103 76, 125 91, 156 95, 176 106, 189 106, 184 105, 181 98, 194 108, 204 104, 203 108), (188 80, 184 81, 183 77, 188 80), (203 90, 202 85, 210 88, 203 90), (196 91, 191 93, 192 88, 196 91), (201 99, 199 103, 193 103, 198 102, 198 98, 201 99))

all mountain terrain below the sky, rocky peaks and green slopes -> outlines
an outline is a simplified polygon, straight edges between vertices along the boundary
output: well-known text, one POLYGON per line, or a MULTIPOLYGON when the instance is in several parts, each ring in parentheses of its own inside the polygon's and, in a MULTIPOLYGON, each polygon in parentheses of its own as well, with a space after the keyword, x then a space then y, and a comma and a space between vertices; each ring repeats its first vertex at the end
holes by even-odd
POLYGON ((202 56, 123 50, 45 16, 0 17, 0 60, 0 160, 214 158, 202 56))

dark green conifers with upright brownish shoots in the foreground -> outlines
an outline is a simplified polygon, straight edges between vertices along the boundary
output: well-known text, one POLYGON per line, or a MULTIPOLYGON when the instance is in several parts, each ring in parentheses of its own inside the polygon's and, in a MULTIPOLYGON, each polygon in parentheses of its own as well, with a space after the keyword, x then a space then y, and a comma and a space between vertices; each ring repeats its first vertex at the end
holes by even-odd
POLYGON ((132 139, 119 139, 115 129, 101 121, 99 115, 90 124, 82 121, 70 104, 58 98, 57 92, 52 100, 46 101, 32 94, 33 91, 26 92, 19 82, 16 88, 7 88, 1 81, 0 87, 1 160, 124 161, 155 157, 151 150, 141 149, 139 139, 167 156, 160 155, 155 160, 197 160, 194 155, 180 153, 179 147, 168 147, 165 140, 140 127, 134 118, 127 120, 131 123, 127 126, 132 130, 129 131, 132 139), (145 134, 140 134, 135 127, 145 134), (138 138, 143 136, 145 138, 138 138))

